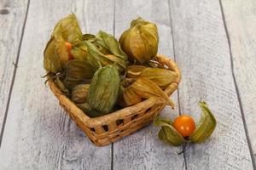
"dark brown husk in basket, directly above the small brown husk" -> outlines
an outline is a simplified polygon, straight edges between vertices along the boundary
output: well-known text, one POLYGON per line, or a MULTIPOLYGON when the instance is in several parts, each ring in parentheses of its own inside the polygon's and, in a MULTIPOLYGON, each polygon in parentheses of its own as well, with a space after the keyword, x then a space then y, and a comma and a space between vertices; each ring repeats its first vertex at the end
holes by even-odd
POLYGON ((66 88, 73 89, 81 83, 90 83, 96 70, 100 65, 97 62, 89 63, 85 60, 73 59, 67 62, 66 77, 64 84, 66 88))

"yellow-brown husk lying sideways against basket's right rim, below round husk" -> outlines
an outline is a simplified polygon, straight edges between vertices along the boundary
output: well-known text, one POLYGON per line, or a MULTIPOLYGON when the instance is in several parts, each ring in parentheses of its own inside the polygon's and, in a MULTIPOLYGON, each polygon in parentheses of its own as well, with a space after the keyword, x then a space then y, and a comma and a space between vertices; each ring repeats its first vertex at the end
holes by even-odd
POLYGON ((138 77, 147 77, 160 86, 160 88, 166 88, 172 82, 177 80, 177 72, 167 69, 147 67, 143 69, 138 77))

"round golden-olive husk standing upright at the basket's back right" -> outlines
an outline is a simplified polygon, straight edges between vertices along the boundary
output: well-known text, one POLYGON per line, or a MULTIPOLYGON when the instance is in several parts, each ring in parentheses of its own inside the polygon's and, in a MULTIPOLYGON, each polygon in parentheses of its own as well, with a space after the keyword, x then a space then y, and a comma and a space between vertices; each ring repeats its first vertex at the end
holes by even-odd
POLYGON ((154 23, 137 18, 119 38, 119 43, 131 63, 145 64, 158 50, 158 31, 154 23))

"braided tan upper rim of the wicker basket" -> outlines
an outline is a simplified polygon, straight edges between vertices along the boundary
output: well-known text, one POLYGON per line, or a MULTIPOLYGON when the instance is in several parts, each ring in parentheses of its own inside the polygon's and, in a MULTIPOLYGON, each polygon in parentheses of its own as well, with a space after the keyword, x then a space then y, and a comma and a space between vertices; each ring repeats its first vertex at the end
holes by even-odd
MULTIPOLYGON (((177 80, 175 82, 172 82, 165 89, 166 94, 170 96, 177 89, 177 85, 180 82, 180 79, 181 79, 180 70, 177 67, 177 64, 172 59, 166 57, 165 55, 157 54, 154 59, 160 62, 161 64, 167 65, 169 70, 177 72, 177 80)), ((99 127, 102 125, 108 125, 108 123, 118 119, 123 119, 125 116, 131 116, 134 113, 133 111, 137 111, 138 109, 142 109, 142 108, 147 109, 149 105, 154 105, 154 103, 156 102, 155 98, 149 98, 149 99, 145 99, 144 101, 136 105, 125 107, 119 111, 114 111, 112 113, 109 113, 108 115, 91 118, 90 116, 87 116, 84 113, 84 111, 80 110, 79 107, 73 103, 73 101, 68 99, 67 96, 61 92, 61 89, 57 87, 57 85, 52 79, 49 79, 48 85, 52 93, 55 94, 55 97, 59 99, 59 102, 61 103, 61 105, 65 105, 67 111, 70 111, 73 114, 75 114, 76 117, 81 122, 84 122, 84 124, 88 127, 99 127)))

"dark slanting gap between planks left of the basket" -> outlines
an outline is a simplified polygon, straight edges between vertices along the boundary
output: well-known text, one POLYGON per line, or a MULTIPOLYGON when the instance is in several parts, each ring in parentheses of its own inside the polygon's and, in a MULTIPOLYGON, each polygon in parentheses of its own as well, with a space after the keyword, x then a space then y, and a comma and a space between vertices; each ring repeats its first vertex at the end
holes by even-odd
POLYGON ((6 123, 6 119, 7 119, 8 112, 9 112, 9 102, 10 102, 11 95, 12 95, 12 92, 13 92, 16 72, 17 72, 19 59, 20 59, 20 48, 21 48, 21 44, 22 44, 22 40, 23 40, 23 36, 24 36, 25 27, 26 27, 26 19, 27 19, 27 14, 28 14, 28 9, 29 9, 29 3, 30 3, 30 0, 27 1, 27 5, 26 5, 26 15, 25 15, 23 26, 22 26, 20 43, 19 43, 19 48, 18 48, 18 54, 17 54, 17 57, 15 59, 15 63, 14 63, 15 70, 14 70, 14 74, 13 74, 13 77, 12 77, 12 82, 10 84, 8 100, 7 100, 6 109, 5 109, 4 116, 3 116, 3 125, 2 125, 2 129, 1 129, 1 133, 0 133, 0 148, 1 148, 1 145, 2 145, 5 123, 6 123))

